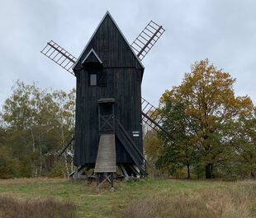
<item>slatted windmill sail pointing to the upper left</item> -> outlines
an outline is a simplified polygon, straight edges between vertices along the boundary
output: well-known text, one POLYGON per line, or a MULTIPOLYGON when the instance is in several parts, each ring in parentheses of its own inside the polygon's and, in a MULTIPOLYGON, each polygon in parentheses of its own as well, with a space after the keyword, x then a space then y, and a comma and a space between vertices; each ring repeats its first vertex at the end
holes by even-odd
POLYGON ((47 58, 50 58, 55 63, 59 64, 60 67, 63 67, 66 71, 73 74, 72 67, 73 64, 77 61, 77 58, 59 46, 59 44, 56 44, 53 40, 48 42, 45 48, 40 51, 40 53, 45 54, 47 58))

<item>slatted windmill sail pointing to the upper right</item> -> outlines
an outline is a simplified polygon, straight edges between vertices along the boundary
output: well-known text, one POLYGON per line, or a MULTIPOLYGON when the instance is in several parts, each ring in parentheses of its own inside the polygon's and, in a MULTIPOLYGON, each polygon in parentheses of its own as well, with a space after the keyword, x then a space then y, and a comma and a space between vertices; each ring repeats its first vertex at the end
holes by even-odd
POLYGON ((163 26, 159 26, 154 21, 150 21, 149 24, 141 31, 140 35, 130 45, 135 50, 140 61, 145 58, 145 55, 149 53, 154 44, 164 33, 163 26))

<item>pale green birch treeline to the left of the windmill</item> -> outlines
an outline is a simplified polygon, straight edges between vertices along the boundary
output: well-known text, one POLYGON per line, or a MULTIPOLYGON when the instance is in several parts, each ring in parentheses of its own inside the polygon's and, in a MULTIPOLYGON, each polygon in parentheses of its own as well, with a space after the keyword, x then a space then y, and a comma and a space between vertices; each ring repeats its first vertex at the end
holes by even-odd
POLYGON ((52 151, 73 132, 74 102, 74 90, 15 83, 1 111, 0 179, 70 173, 70 163, 58 165, 52 151))

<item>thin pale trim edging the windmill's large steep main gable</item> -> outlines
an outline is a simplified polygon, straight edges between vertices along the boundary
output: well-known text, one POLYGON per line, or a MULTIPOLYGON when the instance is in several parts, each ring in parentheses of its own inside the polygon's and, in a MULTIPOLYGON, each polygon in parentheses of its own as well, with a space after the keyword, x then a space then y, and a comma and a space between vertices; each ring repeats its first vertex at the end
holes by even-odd
MULTIPOLYGON (((123 39, 125 39, 126 44, 129 46, 131 52, 135 55, 135 58, 136 58, 136 59, 138 60, 138 62, 140 63, 141 67, 144 68, 144 66, 143 66, 143 64, 141 63, 140 59, 137 57, 137 55, 135 54, 134 50, 131 48, 130 44, 128 43, 128 41, 127 41, 125 35, 123 35, 123 33, 121 32, 119 26, 117 26, 116 21, 113 19, 113 17, 111 16, 110 12, 107 11, 106 14, 103 16, 102 21, 101 21, 101 22, 99 23, 99 25, 97 26, 96 30, 94 30, 94 33, 92 34, 91 38, 88 40, 88 44, 86 44, 86 46, 84 47, 83 52, 79 55, 79 57, 78 57, 76 63, 73 64, 72 69, 74 69, 74 68, 77 66, 78 61, 79 61, 80 58, 82 57, 82 55, 83 55, 83 53, 85 52, 85 50, 88 48, 88 45, 89 45, 90 42, 92 41, 94 35, 97 33, 97 30, 98 30, 99 27, 102 25, 102 22, 105 20, 105 18, 107 17, 107 15, 111 18, 111 21, 113 21, 113 23, 115 24, 117 30, 119 30, 119 32, 121 33, 121 36, 123 37, 123 39)), ((93 50, 93 49, 92 49, 92 50, 93 50)), ((92 50, 91 50, 91 51, 92 51, 92 50)), ((91 53, 91 51, 90 51, 89 53, 91 53)), ((95 53, 95 52, 94 52, 94 53, 95 53)))

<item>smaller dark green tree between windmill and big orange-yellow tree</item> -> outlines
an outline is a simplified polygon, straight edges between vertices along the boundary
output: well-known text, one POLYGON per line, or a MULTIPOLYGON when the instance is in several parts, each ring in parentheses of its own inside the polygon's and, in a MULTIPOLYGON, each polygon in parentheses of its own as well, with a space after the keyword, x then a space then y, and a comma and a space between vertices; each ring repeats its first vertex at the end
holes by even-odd
POLYGON ((174 140, 170 141, 168 137, 159 135, 164 141, 164 151, 157 165, 159 168, 168 165, 171 174, 186 167, 187 179, 191 179, 191 165, 196 160, 193 141, 197 138, 197 123, 192 122, 192 118, 185 114, 183 104, 166 99, 161 105, 161 114, 165 118, 163 127, 170 132, 174 140))

